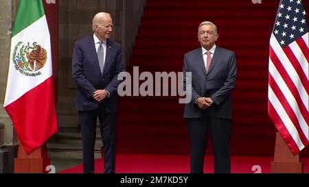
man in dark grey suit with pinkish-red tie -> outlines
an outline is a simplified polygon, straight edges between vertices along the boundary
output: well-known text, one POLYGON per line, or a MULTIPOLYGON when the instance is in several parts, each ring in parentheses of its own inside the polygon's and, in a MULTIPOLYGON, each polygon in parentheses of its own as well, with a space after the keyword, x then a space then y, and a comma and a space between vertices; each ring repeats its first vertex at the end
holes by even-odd
POLYGON ((197 36, 201 47, 185 53, 183 64, 183 73, 192 72, 192 100, 184 112, 190 131, 190 170, 203 173, 210 128, 214 172, 231 173, 231 91, 236 83, 236 55, 215 45, 218 32, 214 23, 202 22, 197 36))

